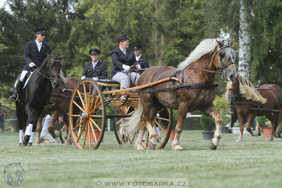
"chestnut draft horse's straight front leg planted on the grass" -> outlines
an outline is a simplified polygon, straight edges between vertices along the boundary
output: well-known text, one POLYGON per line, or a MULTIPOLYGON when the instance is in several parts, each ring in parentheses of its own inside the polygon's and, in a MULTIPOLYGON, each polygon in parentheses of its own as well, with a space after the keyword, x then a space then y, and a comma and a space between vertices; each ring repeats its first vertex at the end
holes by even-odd
POLYGON ((179 105, 177 113, 177 122, 175 126, 175 136, 172 142, 172 150, 174 151, 183 151, 183 148, 179 145, 179 137, 181 132, 183 131, 184 121, 187 113, 187 104, 179 105))

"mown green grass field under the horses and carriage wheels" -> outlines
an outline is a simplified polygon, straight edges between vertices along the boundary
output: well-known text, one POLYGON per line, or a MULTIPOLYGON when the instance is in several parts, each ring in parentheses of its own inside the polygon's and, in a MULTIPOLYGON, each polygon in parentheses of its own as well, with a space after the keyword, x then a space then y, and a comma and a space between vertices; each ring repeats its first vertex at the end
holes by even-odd
MULTIPOLYGON (((216 151, 201 131, 183 131, 172 151, 136 151, 134 145, 118 145, 114 132, 105 132, 97 150, 41 143, 19 147, 18 133, 0 133, 2 172, 9 163, 21 162, 25 174, 18 187, 93 187, 93 178, 183 178, 186 187, 281 187, 282 140, 223 134, 216 151)), ((36 133, 34 135, 36 138, 36 133)), ((135 138, 136 139, 136 138, 135 138)), ((34 139, 35 142, 35 139, 34 139)), ((0 178, 0 187, 11 187, 0 178)), ((149 186, 147 186, 149 187, 149 186)))

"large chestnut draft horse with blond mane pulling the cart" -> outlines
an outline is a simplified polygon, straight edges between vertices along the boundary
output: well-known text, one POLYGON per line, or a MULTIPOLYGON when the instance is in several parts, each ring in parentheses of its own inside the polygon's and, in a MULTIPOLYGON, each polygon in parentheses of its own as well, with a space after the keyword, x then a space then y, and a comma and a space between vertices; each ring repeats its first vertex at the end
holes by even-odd
MULTIPOLYGON (((217 69, 223 72, 222 78, 227 75, 231 80, 236 78, 234 61, 236 53, 231 45, 233 41, 228 42, 222 38, 205 39, 192 51, 192 53, 178 68, 154 66, 147 69, 139 77, 137 85, 145 85, 157 80, 168 78, 179 70, 177 78, 179 81, 172 83, 166 81, 157 85, 152 85, 142 90, 153 90, 169 88, 171 85, 180 85, 182 83, 197 83, 199 87, 182 88, 177 90, 165 90, 150 93, 138 93, 140 102, 134 115, 127 119, 125 130, 129 135, 137 131, 140 127, 140 133, 135 143, 137 150, 143 150, 142 137, 147 128, 149 132, 148 147, 155 149, 157 144, 157 135, 153 130, 151 121, 156 117, 157 112, 165 107, 178 110, 177 123, 175 127, 175 137, 172 142, 172 150, 183 150, 179 145, 179 136, 183 130, 184 120, 188 112, 200 110, 204 115, 212 117, 216 122, 215 138, 210 142, 210 149, 216 150, 221 138, 222 117, 217 113, 213 100, 216 95, 216 86, 203 88, 203 85, 214 84, 214 77, 217 69), (226 68, 226 70, 225 70, 226 68)), ((194 84, 195 85, 195 84, 194 84)))

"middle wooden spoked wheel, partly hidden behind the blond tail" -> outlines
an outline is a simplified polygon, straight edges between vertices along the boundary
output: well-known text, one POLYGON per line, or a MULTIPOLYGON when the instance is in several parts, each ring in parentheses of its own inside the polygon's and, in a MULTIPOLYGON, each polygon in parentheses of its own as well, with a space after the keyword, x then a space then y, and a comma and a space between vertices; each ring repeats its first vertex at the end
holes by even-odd
MULTIPOLYGON (((132 115, 134 113, 134 107, 129 106, 114 106, 114 115, 132 115)), ((115 130, 115 137, 117 138, 117 142, 119 144, 132 144, 135 133, 132 135, 127 135, 124 133, 124 126, 123 122, 126 117, 114 117, 114 130, 115 130)))

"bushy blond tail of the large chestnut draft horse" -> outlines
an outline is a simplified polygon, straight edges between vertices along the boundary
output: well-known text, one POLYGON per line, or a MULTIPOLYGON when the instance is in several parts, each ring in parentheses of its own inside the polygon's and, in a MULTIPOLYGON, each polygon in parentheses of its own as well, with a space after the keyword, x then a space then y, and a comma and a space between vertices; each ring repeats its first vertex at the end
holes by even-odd
POLYGON ((126 134, 132 135, 141 127, 142 121, 140 117, 142 113, 143 113, 143 105, 139 101, 139 104, 134 114, 131 117, 125 118, 123 126, 126 134))

